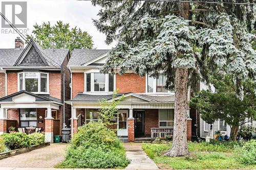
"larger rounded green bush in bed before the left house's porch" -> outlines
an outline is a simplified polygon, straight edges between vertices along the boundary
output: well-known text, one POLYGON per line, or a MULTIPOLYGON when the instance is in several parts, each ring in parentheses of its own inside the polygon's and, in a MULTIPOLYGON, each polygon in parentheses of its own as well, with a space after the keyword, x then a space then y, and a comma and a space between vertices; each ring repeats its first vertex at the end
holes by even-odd
POLYGON ((11 150, 26 148, 31 145, 29 136, 25 133, 4 133, 2 136, 5 139, 6 146, 11 150))

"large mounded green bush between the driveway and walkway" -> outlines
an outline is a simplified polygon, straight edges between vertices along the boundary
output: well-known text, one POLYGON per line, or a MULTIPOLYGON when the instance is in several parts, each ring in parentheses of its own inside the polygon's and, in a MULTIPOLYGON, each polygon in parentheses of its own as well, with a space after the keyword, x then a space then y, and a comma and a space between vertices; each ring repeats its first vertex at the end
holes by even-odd
POLYGON ((78 129, 66 160, 55 167, 113 168, 126 167, 129 162, 115 131, 101 122, 91 122, 78 129))

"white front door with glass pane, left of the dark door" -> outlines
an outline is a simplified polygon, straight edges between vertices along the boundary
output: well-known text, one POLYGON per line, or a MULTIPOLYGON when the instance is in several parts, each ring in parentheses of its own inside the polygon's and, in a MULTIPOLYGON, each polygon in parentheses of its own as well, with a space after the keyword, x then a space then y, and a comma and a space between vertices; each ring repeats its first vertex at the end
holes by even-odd
POLYGON ((119 110, 117 114, 117 136, 128 136, 127 110, 119 110))

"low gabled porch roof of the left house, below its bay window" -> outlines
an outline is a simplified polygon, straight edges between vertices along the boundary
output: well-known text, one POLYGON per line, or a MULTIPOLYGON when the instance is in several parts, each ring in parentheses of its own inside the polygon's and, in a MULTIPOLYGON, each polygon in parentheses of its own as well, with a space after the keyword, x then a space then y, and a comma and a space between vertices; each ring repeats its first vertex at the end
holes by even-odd
MULTIPOLYGON (((12 93, 10 95, 7 95, 7 96, 0 99, 0 103, 2 103, 2 102, 12 102, 13 101, 12 99, 15 98, 15 96, 18 96, 18 95, 21 95, 21 94, 28 94, 28 95, 34 96, 36 102, 55 102, 55 103, 61 104, 60 103, 61 101, 56 99, 56 98, 53 98, 51 96, 49 96, 49 98, 45 98, 43 96, 28 92, 26 90, 18 91, 18 92, 12 93)), ((24 102, 26 102, 26 101, 24 101, 24 102)))

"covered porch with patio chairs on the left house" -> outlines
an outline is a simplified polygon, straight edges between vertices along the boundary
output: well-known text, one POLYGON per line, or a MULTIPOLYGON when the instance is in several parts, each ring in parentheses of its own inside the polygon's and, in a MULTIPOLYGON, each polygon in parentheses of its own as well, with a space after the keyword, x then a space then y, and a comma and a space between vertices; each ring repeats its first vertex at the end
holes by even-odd
POLYGON ((40 129, 50 142, 54 135, 60 135, 61 103, 19 91, 0 99, 0 105, 0 133, 9 133, 10 127, 28 134, 40 129))

